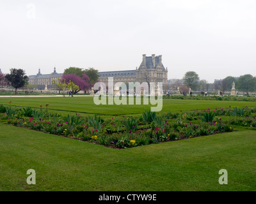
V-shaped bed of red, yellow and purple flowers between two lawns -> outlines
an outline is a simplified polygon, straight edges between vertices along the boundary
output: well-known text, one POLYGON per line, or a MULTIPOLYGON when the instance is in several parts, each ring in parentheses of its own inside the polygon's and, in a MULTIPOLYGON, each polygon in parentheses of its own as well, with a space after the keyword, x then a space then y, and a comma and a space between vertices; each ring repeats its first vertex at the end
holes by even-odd
MULTIPOLYGON (((78 113, 63 117, 60 114, 47 113, 47 110, 42 110, 42 106, 40 110, 0 106, 0 112, 4 112, 1 113, 1 118, 7 120, 7 124, 115 148, 225 133, 233 131, 233 125, 237 124, 256 127, 255 119, 249 121, 247 116, 246 124, 243 124, 243 121, 241 123, 240 119, 233 119, 230 122, 221 120, 220 115, 236 116, 233 114, 234 110, 221 108, 162 115, 145 111, 138 117, 114 115, 109 119, 102 119, 97 115, 82 117, 78 113), (189 120, 193 121, 189 122, 189 120)), ((246 107, 243 111, 236 110, 236 112, 250 115, 252 111, 246 107)))

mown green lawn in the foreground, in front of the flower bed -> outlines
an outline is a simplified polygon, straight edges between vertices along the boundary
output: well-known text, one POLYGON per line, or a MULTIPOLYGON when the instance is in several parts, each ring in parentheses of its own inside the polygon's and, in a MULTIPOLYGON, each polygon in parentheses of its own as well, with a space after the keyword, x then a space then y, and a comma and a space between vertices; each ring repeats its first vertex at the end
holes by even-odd
POLYGON ((116 150, 1 123, 0 129, 0 191, 256 190, 253 130, 116 150), (26 184, 30 168, 36 185, 26 184), (218 183, 221 168, 228 185, 218 183))

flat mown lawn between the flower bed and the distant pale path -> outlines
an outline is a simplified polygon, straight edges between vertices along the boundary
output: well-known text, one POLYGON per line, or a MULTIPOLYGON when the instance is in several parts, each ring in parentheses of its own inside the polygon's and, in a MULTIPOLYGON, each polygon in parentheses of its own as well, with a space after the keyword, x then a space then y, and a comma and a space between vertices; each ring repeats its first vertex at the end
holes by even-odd
MULTIPOLYGON (((39 108, 40 105, 49 103, 49 110, 54 112, 79 112, 79 113, 97 113, 101 115, 131 115, 138 114, 149 109, 153 105, 95 105, 93 97, 44 97, 44 98, 0 98, 0 104, 8 105, 12 101, 12 105, 31 106, 39 108)), ((143 100, 141 100, 143 101, 143 100)), ((142 102, 141 102, 142 103, 142 102)), ((163 109, 161 112, 177 112, 188 110, 204 110, 207 108, 228 108, 256 106, 256 102, 248 101, 206 101, 206 100, 186 100, 186 99, 163 99, 163 109)))

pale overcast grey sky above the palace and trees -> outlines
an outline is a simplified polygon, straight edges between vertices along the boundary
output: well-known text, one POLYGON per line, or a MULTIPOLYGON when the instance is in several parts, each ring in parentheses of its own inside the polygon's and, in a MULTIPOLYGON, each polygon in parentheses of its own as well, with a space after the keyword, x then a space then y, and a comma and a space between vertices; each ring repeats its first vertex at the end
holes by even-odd
POLYGON ((139 67, 162 55, 168 78, 256 76, 255 0, 0 0, 0 68, 139 67))

